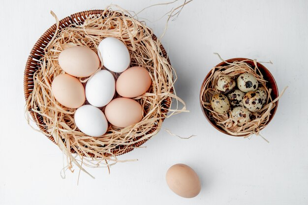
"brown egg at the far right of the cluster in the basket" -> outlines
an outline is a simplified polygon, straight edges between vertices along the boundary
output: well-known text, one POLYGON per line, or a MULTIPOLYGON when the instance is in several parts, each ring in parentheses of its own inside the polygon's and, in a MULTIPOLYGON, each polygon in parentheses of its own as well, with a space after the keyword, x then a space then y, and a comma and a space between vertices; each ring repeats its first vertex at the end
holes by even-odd
POLYGON ((145 93, 150 88, 151 83, 149 71, 136 66, 128 68, 119 76, 116 89, 121 96, 133 98, 145 93))

